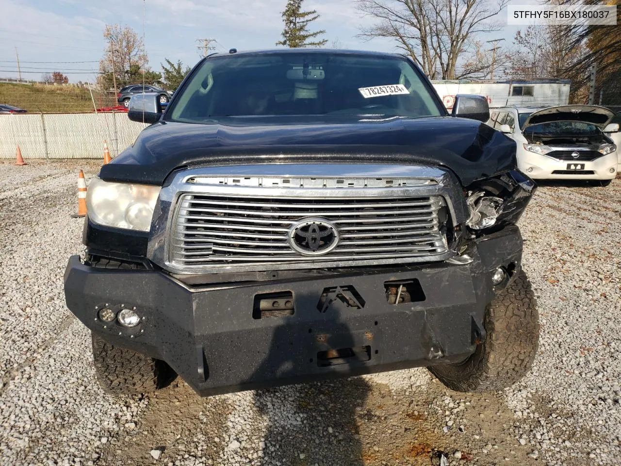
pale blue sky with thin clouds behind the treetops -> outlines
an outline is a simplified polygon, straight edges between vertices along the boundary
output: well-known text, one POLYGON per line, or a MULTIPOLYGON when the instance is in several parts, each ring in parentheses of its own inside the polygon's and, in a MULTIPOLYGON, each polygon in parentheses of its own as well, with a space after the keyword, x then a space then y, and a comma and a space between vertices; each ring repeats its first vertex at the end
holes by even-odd
MULTIPOLYGON (((492 0, 493 1, 493 0, 492 0)), ((63 71, 70 82, 91 81, 106 43, 106 24, 129 25, 143 31, 149 64, 160 71, 164 58, 194 65, 199 60, 196 39, 217 39, 217 50, 271 48, 280 39, 280 12, 286 0, 0 0, 0 77, 17 77, 15 47, 22 78, 40 80, 53 70, 63 71), (39 63, 34 63, 39 62, 39 63), (55 62, 55 63, 42 63, 55 62), (89 63, 60 63, 89 62, 89 63), (26 73, 28 71, 28 73, 26 73)), ((361 17, 353 0, 306 0, 320 19, 313 29, 325 29, 325 39, 338 39, 343 48, 393 51, 394 42, 356 36, 371 19, 361 17)), ((506 13, 499 16, 506 22, 506 13)), ((480 37, 504 38, 510 44, 515 26, 480 37)))

